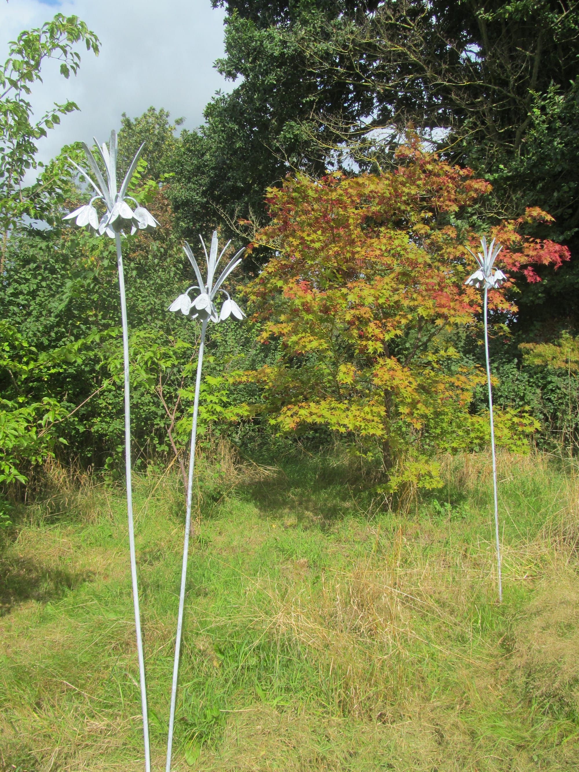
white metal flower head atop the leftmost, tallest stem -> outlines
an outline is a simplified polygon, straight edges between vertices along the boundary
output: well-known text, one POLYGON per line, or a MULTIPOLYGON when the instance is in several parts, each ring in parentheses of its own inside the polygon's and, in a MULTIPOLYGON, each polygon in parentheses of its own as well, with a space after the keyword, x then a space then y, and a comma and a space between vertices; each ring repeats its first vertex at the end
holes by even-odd
POLYGON ((107 181, 105 182, 103 174, 100 171, 99 165, 93 153, 87 144, 83 142, 83 150, 86 154, 86 160, 90 164, 90 168, 93 170, 93 174, 97 179, 95 182, 92 178, 86 174, 86 171, 80 168, 78 164, 71 161, 80 174, 90 182, 97 195, 94 195, 90 199, 88 204, 75 209, 74 212, 70 212, 66 215, 65 220, 76 220, 76 225, 80 228, 87 227, 91 233, 103 235, 106 233, 111 239, 114 239, 117 233, 120 233, 123 229, 130 228, 130 233, 133 235, 137 230, 151 233, 157 225, 157 220, 151 215, 151 212, 147 212, 144 206, 141 206, 138 201, 127 195, 127 188, 130 185, 130 180, 133 177, 134 171, 137 168, 137 163, 143 152, 144 144, 139 147, 137 154, 135 155, 133 162, 130 164, 129 171, 124 178, 123 184, 117 189, 117 132, 110 132, 109 147, 103 142, 102 146, 99 146, 97 140, 94 141, 97 146, 100 160, 103 161, 105 173, 107 174, 107 181), (94 201, 103 201, 107 207, 107 212, 100 218, 97 210, 93 207, 94 201), (133 210, 127 204, 127 201, 134 201, 137 207, 133 210))

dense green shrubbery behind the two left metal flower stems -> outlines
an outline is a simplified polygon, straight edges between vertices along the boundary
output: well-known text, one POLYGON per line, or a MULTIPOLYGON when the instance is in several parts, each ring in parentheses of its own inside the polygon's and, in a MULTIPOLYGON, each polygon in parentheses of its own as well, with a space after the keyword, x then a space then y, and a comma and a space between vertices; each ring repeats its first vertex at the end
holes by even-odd
MULTIPOLYGON (((174 439, 179 449, 188 446, 191 424, 187 417, 193 403, 190 387, 195 380, 199 335, 198 323, 167 310, 191 283, 191 266, 172 234, 162 192, 151 210, 161 221, 161 229, 123 242, 137 467, 159 454, 173 453, 167 433, 171 418, 163 400, 169 412, 177 405, 174 439)), ((201 252, 195 242, 194 249, 201 252)), ((72 414, 59 425, 59 435, 67 443, 58 450, 60 458, 66 462, 76 459, 82 467, 105 466, 116 474, 122 457, 124 414, 114 242, 70 228, 21 230, 8 242, 4 282, 0 318, 12 320, 26 348, 13 357, 24 371, 18 383, 6 367, 0 368, 3 397, 22 398, 39 409, 42 400, 54 401, 59 417, 72 414), (42 367, 25 368, 30 347, 42 367)), ((3 339, 2 345, 8 345, 7 341, 3 339)), ((227 425, 238 415, 229 411, 229 405, 242 405, 247 398, 244 392, 249 393, 251 387, 228 384, 228 373, 265 364, 264 357, 271 350, 256 344, 250 324, 237 327, 228 321, 212 326, 204 367, 201 429, 211 424, 214 433, 219 433, 216 425, 224 421, 227 425)), ((256 435, 254 423, 249 419, 223 431, 247 445, 256 435)), ((267 444, 269 435, 266 432, 257 445, 267 444)))

